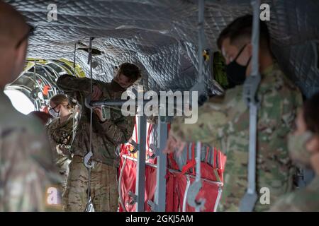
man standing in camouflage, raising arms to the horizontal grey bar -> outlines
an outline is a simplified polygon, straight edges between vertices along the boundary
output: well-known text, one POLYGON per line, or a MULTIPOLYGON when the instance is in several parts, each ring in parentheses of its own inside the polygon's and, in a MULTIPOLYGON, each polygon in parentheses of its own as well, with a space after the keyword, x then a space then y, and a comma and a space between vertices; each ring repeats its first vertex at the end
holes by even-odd
MULTIPOLYGON (((93 81, 91 100, 118 100, 122 93, 140 77, 134 64, 121 64, 111 83, 93 81)), ((72 145, 72 162, 69 165, 67 189, 63 195, 64 209, 84 211, 88 203, 86 193, 89 171, 83 157, 89 152, 90 109, 85 107, 85 97, 90 95, 90 79, 60 76, 57 86, 82 105, 81 119, 72 145)), ((117 172, 119 157, 117 146, 132 136, 135 117, 124 117, 121 107, 109 109, 108 119, 103 119, 101 109, 94 109, 92 152, 94 167, 91 169, 91 198, 96 211, 116 211, 118 208, 117 172)))

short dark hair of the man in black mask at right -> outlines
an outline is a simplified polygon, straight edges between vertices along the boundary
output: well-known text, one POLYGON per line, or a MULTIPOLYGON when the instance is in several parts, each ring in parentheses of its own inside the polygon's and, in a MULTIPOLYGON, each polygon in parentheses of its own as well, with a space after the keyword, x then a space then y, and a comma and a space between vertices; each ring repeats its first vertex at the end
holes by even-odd
MULTIPOLYGON (((269 48, 270 36, 267 24, 264 21, 260 21, 260 35, 259 42, 263 47, 269 48)), ((237 44, 236 42, 242 40, 242 38, 251 38, 252 36, 252 15, 245 15, 235 19, 230 23, 222 32, 217 40, 218 49, 221 49, 223 40, 230 38, 231 44, 237 44)))

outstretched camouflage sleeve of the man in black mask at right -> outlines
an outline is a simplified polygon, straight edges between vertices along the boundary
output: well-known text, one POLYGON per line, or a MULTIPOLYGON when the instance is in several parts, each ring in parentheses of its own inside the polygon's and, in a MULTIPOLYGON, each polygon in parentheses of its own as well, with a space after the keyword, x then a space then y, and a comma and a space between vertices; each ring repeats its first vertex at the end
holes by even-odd
POLYGON ((198 120, 195 124, 185 124, 185 117, 176 117, 171 125, 171 135, 181 141, 201 141, 207 144, 216 144, 223 126, 227 123, 227 115, 218 110, 218 102, 211 98, 198 108, 198 120))

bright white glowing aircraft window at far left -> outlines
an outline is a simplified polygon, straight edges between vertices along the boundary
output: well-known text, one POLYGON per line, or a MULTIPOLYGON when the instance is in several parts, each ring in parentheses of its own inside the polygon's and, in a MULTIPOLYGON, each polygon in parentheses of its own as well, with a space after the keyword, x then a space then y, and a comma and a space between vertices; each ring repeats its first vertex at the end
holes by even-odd
POLYGON ((18 112, 29 114, 34 110, 33 102, 19 90, 4 90, 4 93, 9 97, 11 103, 18 112))

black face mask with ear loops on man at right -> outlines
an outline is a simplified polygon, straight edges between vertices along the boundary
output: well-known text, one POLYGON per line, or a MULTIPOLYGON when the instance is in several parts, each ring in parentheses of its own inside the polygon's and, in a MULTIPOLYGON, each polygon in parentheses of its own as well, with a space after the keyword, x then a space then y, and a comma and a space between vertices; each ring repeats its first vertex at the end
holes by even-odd
POLYGON ((237 54, 237 57, 235 57, 235 59, 231 61, 230 64, 226 65, 226 74, 230 86, 242 85, 245 82, 247 66, 248 64, 250 64, 250 59, 252 59, 252 57, 250 57, 245 66, 238 64, 236 60, 240 56, 242 51, 245 49, 246 45, 247 44, 245 44, 242 47, 242 49, 240 49, 240 52, 237 54))

